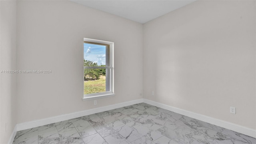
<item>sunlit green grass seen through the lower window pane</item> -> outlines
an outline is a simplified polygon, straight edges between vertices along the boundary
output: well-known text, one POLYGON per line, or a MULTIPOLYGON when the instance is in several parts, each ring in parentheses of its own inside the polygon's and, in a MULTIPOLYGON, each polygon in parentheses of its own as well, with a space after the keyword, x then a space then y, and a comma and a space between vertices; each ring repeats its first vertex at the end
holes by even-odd
POLYGON ((99 80, 84 81, 84 94, 106 92, 106 77, 100 76, 99 80))

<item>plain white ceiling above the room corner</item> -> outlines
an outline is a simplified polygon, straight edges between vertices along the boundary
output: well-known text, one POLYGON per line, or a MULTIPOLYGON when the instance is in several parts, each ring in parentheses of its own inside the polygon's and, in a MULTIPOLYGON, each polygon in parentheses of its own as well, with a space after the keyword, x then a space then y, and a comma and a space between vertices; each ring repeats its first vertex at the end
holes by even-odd
POLYGON ((196 0, 70 0, 144 24, 196 0))

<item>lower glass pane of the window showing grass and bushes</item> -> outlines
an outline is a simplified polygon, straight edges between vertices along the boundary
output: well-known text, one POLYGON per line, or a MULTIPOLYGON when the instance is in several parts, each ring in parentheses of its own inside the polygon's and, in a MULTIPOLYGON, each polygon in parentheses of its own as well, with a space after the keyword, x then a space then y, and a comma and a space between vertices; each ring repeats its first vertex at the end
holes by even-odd
POLYGON ((84 94, 106 92, 106 69, 84 69, 84 94))

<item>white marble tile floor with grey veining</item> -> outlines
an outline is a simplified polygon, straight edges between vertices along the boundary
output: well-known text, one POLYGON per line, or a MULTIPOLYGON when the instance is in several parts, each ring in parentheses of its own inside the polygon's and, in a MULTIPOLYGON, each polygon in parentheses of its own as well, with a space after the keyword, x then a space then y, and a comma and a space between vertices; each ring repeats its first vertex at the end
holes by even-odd
POLYGON ((256 144, 256 138, 140 103, 18 131, 13 144, 256 144))

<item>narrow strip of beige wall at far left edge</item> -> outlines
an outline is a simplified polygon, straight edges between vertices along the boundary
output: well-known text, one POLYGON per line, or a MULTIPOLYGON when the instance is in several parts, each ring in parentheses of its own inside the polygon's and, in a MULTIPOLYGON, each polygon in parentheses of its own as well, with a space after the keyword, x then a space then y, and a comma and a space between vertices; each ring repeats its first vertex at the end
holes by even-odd
MULTIPOLYGON (((16 70, 16 1, 0 1, 0 71, 16 70)), ((17 124, 16 74, 0 74, 0 144, 17 124)))

